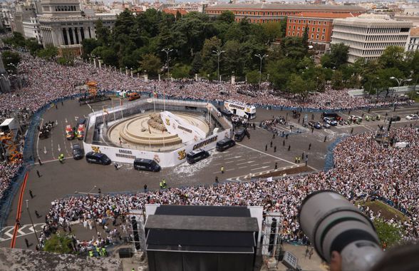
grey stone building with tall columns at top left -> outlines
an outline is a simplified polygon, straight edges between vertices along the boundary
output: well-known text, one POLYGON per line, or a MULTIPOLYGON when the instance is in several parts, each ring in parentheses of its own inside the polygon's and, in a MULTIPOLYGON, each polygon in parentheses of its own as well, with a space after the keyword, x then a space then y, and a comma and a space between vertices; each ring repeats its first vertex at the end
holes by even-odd
POLYGON ((42 14, 38 16, 43 46, 56 46, 80 52, 83 39, 95 39, 95 22, 111 28, 115 14, 85 14, 78 0, 42 0, 42 14))

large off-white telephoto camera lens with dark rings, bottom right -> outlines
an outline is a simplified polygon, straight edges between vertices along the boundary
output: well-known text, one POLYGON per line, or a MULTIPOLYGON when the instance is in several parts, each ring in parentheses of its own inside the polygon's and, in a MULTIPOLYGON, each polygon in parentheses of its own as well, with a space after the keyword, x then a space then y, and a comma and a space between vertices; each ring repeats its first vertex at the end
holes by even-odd
POLYGON ((381 258, 376 229, 366 215, 332 190, 319 190, 301 203, 299 222, 326 262, 342 256, 342 270, 369 270, 381 258))

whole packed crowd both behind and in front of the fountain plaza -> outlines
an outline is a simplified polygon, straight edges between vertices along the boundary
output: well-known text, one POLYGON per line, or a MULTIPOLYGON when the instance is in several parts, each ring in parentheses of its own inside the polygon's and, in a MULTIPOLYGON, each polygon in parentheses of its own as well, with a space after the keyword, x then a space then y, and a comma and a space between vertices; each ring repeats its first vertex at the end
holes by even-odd
MULTIPOLYGON (((75 66, 60 66, 41 58, 24 55, 19 73, 25 74, 24 88, 0 95, 0 121, 16 111, 31 113, 58 98, 77 94, 76 86, 97 81, 102 91, 148 91, 173 98, 211 101, 234 100, 259 106, 294 108, 359 108, 393 106, 397 101, 372 103, 366 98, 351 98, 348 90, 326 89, 305 101, 280 96, 266 84, 262 90, 242 83, 232 85, 209 81, 149 81, 119 73, 113 68, 95 68, 91 63, 76 61, 75 66), (254 98, 254 97, 257 98, 254 98)), ((405 103, 405 102, 403 102, 405 103)), ((282 235, 286 240, 301 240, 296 220, 301 200, 311 191, 333 189, 351 200, 381 197, 392 200, 395 207, 410 214, 403 227, 417 236, 419 195, 419 136, 412 128, 392 131, 396 138, 408 140, 410 148, 383 148, 371 139, 371 133, 351 136, 335 150, 335 168, 329 172, 281 178, 268 183, 222 183, 209 188, 170 188, 136 195, 102 195, 101 197, 56 200, 47 216, 48 223, 66 225, 74 220, 117 218, 130 209, 142 209, 146 203, 188 205, 262 205, 265 211, 279 212, 282 235)), ((0 164, 0 197, 16 175, 19 163, 0 164)))

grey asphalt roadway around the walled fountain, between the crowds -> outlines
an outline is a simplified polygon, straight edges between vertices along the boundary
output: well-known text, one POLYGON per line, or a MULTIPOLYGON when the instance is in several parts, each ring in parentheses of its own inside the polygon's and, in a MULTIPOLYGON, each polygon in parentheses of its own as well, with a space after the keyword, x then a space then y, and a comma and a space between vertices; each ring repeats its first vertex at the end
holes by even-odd
MULTIPOLYGON (((118 105, 119 100, 113 103, 118 105)), ((141 172, 133 169, 133 165, 121 164, 119 170, 115 170, 113 165, 95 165, 86 163, 85 159, 73 160, 71 155, 72 145, 81 143, 81 141, 66 140, 66 125, 76 126, 78 118, 87 116, 92 111, 101 111, 103 107, 112 106, 112 101, 93 103, 91 106, 79 106, 76 100, 66 101, 57 108, 52 107, 43 115, 43 123, 53 121, 56 123, 51 136, 46 139, 34 140, 36 154, 43 162, 42 165, 36 163, 29 171, 29 179, 26 185, 24 201, 29 200, 29 212, 36 224, 36 230, 41 228, 44 217, 50 206, 51 201, 56 198, 64 198, 68 195, 77 193, 97 193, 98 188, 102 193, 126 192, 143 190, 143 185, 147 184, 149 189, 157 189, 162 178, 167 180, 169 187, 182 187, 187 185, 202 185, 214 183, 215 177, 222 180, 232 180, 236 182, 247 181, 246 177, 251 174, 273 170, 275 163, 278 168, 289 168, 298 166, 294 158, 304 153, 309 155, 308 165, 313 170, 324 169, 324 159, 326 158, 327 146, 341 136, 351 133, 363 133, 365 131, 376 131, 377 125, 386 125, 384 116, 400 116, 401 121, 393 123, 392 127, 407 126, 412 123, 418 125, 419 121, 406 121, 405 116, 419 111, 419 105, 397 108, 383 108, 367 111, 348 111, 339 113, 343 118, 348 115, 362 116, 370 114, 371 116, 381 115, 381 121, 363 121, 361 125, 336 126, 330 129, 314 130, 303 128, 298 119, 292 118, 292 113, 288 111, 269 111, 267 109, 257 108, 257 118, 252 120, 257 123, 272 118, 272 116, 284 116, 289 120, 289 124, 294 125, 293 133, 286 138, 276 136, 272 139, 272 133, 257 127, 250 129, 250 139, 238 143, 233 148, 218 153, 216 150, 210 151, 209 158, 202 160, 194 165, 183 163, 177 167, 164 168, 159 173, 141 172), (286 115, 288 113, 288 116, 286 115), (302 133, 295 133, 296 129, 302 133), (326 142, 324 139, 326 137, 326 142), (272 141, 272 148, 270 143, 272 141), (284 143, 285 141, 285 143, 284 143), (309 144, 311 143, 311 150, 309 144), (267 145, 267 151, 265 146, 267 145), (274 152, 276 146, 276 152, 274 152), (290 146, 290 150, 288 147, 290 146), (63 153, 66 160, 63 164, 58 162, 58 155, 63 153), (220 173, 220 168, 224 166, 225 173, 220 173), (38 177, 36 171, 41 174, 38 177), (96 188, 94 188, 96 186, 96 188), (33 191, 34 198, 29 195, 29 190, 33 191), (36 218, 35 210, 41 215, 36 218)), ((306 113, 301 113, 301 120, 306 113)), ((314 121, 320 120, 321 113, 314 113, 314 121)), ((311 113, 307 113, 308 121, 311 121, 311 113)), ((277 125, 280 131, 289 133, 289 125, 277 125)), ((301 160, 299 165, 304 162, 301 160)), ((16 219, 16 208, 19 195, 16 195, 12 204, 11 212, 6 225, 0 232, 0 246, 9 247, 11 226, 16 219)), ((29 215, 25 208, 21 210, 21 225, 25 226, 19 230, 16 239, 16 247, 26 248, 24 237, 32 243, 35 243, 33 229, 30 225, 29 215)), ((92 233, 86 232, 83 227, 74 226, 76 236, 80 239, 91 239, 92 233)), ((32 247, 34 248, 34 246, 32 247)))

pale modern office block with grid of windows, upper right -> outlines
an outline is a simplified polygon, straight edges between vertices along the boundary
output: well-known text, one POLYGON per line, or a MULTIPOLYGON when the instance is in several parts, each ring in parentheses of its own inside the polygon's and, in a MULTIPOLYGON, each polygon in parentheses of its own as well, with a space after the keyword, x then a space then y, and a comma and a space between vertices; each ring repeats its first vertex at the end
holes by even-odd
POLYGON ((362 14, 334 19, 331 44, 349 46, 348 62, 358 58, 377 60, 388 46, 405 48, 411 21, 397 21, 388 15, 362 14))

